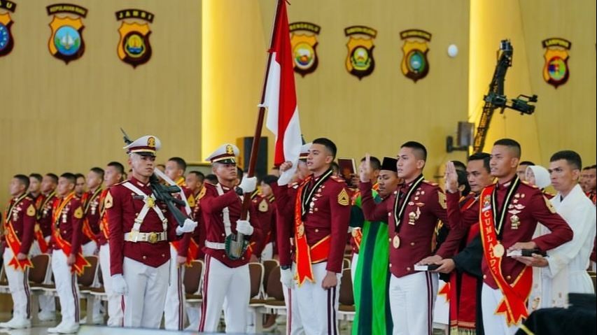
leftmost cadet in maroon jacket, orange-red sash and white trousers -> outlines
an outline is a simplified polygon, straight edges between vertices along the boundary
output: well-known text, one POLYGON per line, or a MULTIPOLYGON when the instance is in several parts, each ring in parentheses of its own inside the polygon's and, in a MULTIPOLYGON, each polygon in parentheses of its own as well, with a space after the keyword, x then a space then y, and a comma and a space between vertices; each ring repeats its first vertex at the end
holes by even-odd
POLYGON ((0 328, 31 327, 31 295, 29 294, 29 248, 33 242, 36 210, 27 196, 29 178, 18 174, 10 181, 10 199, 3 219, 3 259, 8 288, 13 297, 13 318, 1 322, 0 328))

